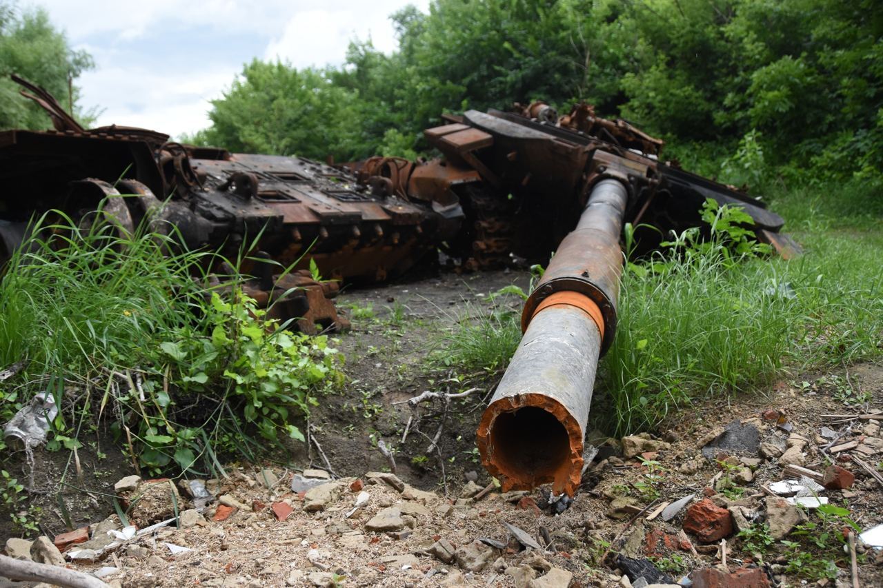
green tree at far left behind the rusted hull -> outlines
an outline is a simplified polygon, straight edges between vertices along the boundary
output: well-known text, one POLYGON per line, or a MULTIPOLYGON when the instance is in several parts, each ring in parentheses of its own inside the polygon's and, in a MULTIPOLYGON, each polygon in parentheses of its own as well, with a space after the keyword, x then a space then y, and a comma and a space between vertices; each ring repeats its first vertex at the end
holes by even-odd
POLYGON ((0 128, 51 126, 42 109, 19 95, 20 87, 9 79, 11 73, 46 88, 65 106, 72 102, 74 117, 90 123, 90 113, 79 109, 79 88, 73 85, 69 95, 68 80, 92 67, 92 57, 71 49, 46 11, 19 12, 14 4, 0 2, 0 128))

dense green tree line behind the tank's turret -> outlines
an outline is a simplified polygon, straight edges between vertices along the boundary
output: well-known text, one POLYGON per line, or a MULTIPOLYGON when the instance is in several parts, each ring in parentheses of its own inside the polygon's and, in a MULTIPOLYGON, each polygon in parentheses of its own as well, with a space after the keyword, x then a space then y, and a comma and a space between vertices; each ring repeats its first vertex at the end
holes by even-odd
MULTIPOLYGON (((444 112, 584 100, 666 139, 667 157, 734 183, 883 185, 874 0, 434 0, 390 18, 391 55, 352 41, 338 67, 245 64, 212 102, 212 124, 185 139, 336 161, 415 157, 444 112)), ((79 67, 68 71, 88 64, 67 55, 79 67)))

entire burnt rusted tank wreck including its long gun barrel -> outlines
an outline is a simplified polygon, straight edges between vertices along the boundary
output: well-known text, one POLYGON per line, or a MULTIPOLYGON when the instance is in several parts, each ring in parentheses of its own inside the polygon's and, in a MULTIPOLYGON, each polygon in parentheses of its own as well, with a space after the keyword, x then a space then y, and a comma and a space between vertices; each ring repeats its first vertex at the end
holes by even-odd
POLYGON ((615 336, 624 223, 638 227, 638 253, 649 252, 670 231, 700 226, 712 199, 743 208, 781 256, 799 253, 761 201, 661 161, 660 139, 584 103, 562 116, 543 102, 468 110, 424 132, 439 158, 333 166, 132 127, 87 130, 42 88, 16 81, 55 130, 0 132, 0 262, 34 213, 82 218, 101 203, 121 230, 173 225, 192 247, 236 251, 260 235, 250 257, 277 263, 245 268, 244 288, 263 305, 279 298, 274 315, 298 317, 306 332, 346 326, 330 302, 338 283, 383 281, 440 251, 465 269, 548 263, 478 430, 482 462, 504 490, 577 489, 595 371, 615 336), (311 259, 336 281, 313 281, 311 259), (301 271, 274 275, 294 263, 301 271))

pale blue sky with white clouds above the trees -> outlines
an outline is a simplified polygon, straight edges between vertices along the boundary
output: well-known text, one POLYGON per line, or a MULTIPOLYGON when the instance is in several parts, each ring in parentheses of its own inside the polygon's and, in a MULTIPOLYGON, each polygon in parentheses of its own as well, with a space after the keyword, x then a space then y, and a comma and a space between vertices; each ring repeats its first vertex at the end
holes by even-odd
POLYGON ((257 57, 295 67, 343 63, 353 39, 396 49, 389 15, 429 0, 24 0, 42 6, 95 67, 76 84, 96 125, 125 124, 179 137, 209 125, 210 100, 257 57))

